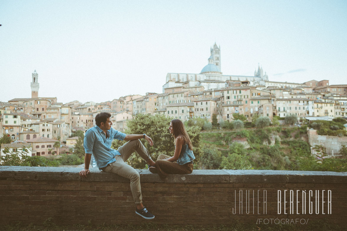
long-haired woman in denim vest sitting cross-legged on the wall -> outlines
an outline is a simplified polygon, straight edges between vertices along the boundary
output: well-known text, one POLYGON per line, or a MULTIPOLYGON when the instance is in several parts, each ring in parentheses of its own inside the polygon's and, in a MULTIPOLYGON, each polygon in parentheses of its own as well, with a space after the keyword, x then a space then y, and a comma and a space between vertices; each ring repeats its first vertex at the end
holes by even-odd
POLYGON ((190 174, 193 171, 193 146, 182 121, 173 119, 169 132, 171 137, 175 138, 174 156, 160 154, 155 161, 155 167, 149 168, 152 173, 159 174, 161 179, 165 179, 168 174, 190 174))

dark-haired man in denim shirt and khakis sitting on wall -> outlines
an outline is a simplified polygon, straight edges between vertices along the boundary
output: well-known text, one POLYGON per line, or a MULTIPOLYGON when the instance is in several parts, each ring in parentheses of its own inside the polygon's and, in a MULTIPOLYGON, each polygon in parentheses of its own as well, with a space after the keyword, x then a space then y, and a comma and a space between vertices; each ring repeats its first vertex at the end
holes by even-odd
POLYGON ((150 166, 154 166, 155 162, 151 159, 147 149, 139 139, 146 139, 151 146, 153 141, 146 134, 127 135, 111 128, 112 122, 110 118, 110 113, 99 113, 95 117, 96 126, 86 131, 84 136, 84 169, 79 172, 79 175, 86 177, 90 172, 89 164, 93 154, 96 165, 100 170, 112 172, 130 179, 130 189, 136 204, 136 214, 144 219, 153 219, 154 215, 142 204, 140 175, 133 167, 125 163, 130 155, 136 151, 150 166), (120 146, 118 150, 113 150, 111 149, 113 139, 127 140, 129 142, 120 146))

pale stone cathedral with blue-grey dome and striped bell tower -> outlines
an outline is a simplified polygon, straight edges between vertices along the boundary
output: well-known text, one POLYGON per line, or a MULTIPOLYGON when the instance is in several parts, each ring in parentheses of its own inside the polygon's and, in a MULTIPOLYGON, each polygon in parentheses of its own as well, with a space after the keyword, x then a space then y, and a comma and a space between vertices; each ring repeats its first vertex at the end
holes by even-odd
POLYGON ((265 81, 269 81, 268 75, 263 73, 263 69, 258 66, 258 71, 254 76, 223 75, 221 71, 220 46, 216 43, 210 49, 208 64, 198 74, 188 73, 168 73, 166 83, 163 85, 163 92, 166 88, 172 87, 195 87, 203 86, 205 90, 220 89, 228 86, 229 81, 246 82, 249 86, 265 86, 265 81))

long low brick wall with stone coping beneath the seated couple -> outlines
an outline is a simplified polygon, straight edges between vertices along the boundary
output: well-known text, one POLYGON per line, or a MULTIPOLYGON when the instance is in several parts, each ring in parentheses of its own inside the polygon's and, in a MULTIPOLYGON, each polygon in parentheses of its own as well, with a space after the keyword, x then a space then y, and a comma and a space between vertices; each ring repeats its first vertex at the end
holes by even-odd
POLYGON ((0 166, 1 224, 18 221, 24 224, 42 224, 48 218, 58 224, 87 224, 88 221, 93 224, 230 224, 236 220, 255 224, 258 219, 277 218, 288 219, 289 222, 291 219, 309 219, 308 222, 327 219, 329 223, 342 224, 347 218, 347 173, 194 170, 190 175, 170 175, 163 182, 158 175, 151 174, 148 170, 138 170, 143 203, 155 215, 154 220, 146 221, 135 214, 127 179, 97 169, 92 169, 88 177, 82 179, 78 175, 79 170, 81 169, 0 166), (289 191, 286 191, 288 214, 283 214, 283 194, 286 189, 295 192, 295 214, 289 214, 289 191), (242 206, 239 206, 240 190, 242 206), (249 203, 246 200, 248 190, 249 203), (282 197, 280 215, 277 213, 277 190, 281 190, 282 197), (296 190, 300 190, 300 215, 296 215, 296 190), (302 190, 306 190, 307 196, 309 190, 313 190, 313 209, 315 190, 320 190, 320 196, 322 190, 325 190, 325 214, 321 211, 321 197, 319 215, 313 215, 314 211, 312 215, 308 214, 308 198, 306 214, 301 214, 302 190), (331 190, 332 214, 328 214, 328 190, 331 190), (264 192, 266 214, 263 206, 264 192), (239 212, 241 208, 242 213, 239 212))

